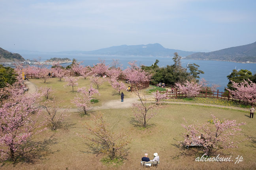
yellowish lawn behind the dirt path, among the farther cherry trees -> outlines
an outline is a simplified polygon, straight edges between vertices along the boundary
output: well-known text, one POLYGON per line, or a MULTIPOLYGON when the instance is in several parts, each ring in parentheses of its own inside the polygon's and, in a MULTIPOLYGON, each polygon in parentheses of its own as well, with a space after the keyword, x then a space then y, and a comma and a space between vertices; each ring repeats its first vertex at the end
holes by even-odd
MULTIPOLYGON (((47 87, 52 87, 55 92, 50 94, 50 96, 56 96, 55 99, 57 102, 60 102, 63 100, 63 102, 60 104, 60 106, 70 106, 72 108, 75 107, 73 103, 70 103, 70 101, 76 96, 77 94, 77 89, 80 87, 90 87, 90 78, 87 79, 82 79, 80 78, 78 82, 78 87, 74 87, 74 92, 72 92, 72 87, 64 87, 64 85, 67 84, 65 81, 58 81, 58 78, 50 78, 47 79, 47 83, 43 83, 41 79, 30 79, 32 83, 34 83, 38 88, 47 86, 47 87)), ((130 84, 126 83, 126 86, 128 87, 130 84)), ((93 85, 94 88, 95 85, 93 85)), ((109 100, 116 100, 120 99, 120 95, 118 92, 111 87, 109 82, 104 82, 103 85, 100 86, 98 89, 100 95, 96 94, 93 97, 98 99, 99 102, 93 104, 94 106, 102 105, 102 103, 109 101, 109 100)), ((125 98, 132 97, 131 92, 127 92, 126 90, 123 91, 125 98)))

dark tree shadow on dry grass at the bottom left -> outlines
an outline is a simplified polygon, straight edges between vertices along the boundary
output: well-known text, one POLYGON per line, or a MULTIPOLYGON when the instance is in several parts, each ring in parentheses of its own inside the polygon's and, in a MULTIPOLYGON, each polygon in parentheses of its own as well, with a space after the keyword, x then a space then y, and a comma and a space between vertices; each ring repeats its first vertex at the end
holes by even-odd
POLYGON ((59 152, 59 150, 51 151, 50 146, 57 144, 56 138, 45 139, 43 141, 35 142, 33 140, 28 140, 21 146, 21 152, 17 152, 15 155, 16 161, 12 162, 10 159, 2 163, 2 166, 7 163, 13 164, 16 166, 18 163, 34 163, 38 160, 47 160, 46 156, 49 154, 54 154, 59 152))

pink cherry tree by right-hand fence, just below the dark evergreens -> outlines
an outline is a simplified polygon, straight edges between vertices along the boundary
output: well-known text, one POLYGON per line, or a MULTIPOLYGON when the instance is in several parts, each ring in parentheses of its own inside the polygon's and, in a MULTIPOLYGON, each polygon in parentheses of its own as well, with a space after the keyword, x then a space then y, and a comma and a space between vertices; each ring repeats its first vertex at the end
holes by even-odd
POLYGON ((196 82, 189 82, 188 80, 182 85, 181 83, 175 83, 176 88, 179 89, 188 98, 196 97, 199 94, 202 85, 198 85, 196 82))

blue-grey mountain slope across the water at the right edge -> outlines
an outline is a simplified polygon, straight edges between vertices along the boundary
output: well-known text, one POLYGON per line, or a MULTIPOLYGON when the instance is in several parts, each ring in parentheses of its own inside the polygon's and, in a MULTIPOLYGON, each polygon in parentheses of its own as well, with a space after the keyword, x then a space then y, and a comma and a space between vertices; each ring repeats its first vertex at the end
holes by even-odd
POLYGON ((203 59, 219 61, 235 61, 239 63, 256 63, 256 42, 243 46, 225 48, 214 52, 200 52, 188 55, 186 59, 203 59))

